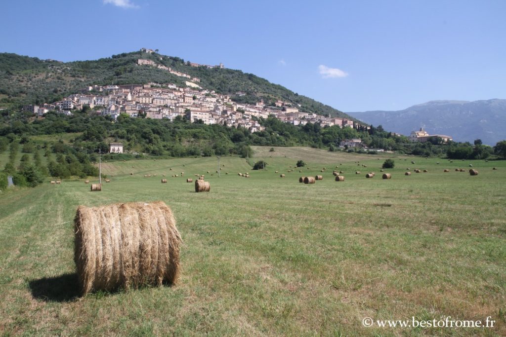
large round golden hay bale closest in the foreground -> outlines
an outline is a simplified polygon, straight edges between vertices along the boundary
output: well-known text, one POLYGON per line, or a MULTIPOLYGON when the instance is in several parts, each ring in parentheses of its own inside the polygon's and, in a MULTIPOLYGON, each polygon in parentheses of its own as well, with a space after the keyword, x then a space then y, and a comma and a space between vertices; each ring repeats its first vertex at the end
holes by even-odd
POLYGON ((79 206, 74 227, 82 295, 176 282, 182 240, 163 202, 79 206))

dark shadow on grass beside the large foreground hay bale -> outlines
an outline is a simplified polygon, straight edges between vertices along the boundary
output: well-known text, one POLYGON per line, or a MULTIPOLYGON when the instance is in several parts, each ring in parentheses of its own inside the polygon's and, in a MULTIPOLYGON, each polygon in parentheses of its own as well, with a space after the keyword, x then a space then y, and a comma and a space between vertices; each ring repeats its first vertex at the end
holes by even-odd
POLYGON ((46 302, 70 302, 79 297, 76 273, 31 280, 28 286, 33 298, 46 302))

